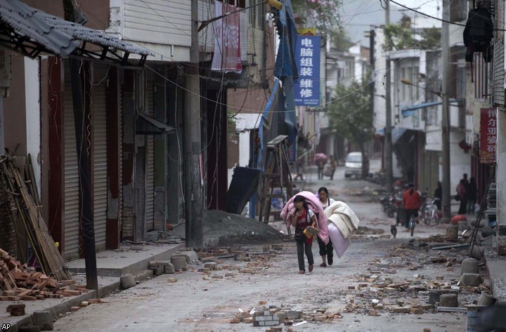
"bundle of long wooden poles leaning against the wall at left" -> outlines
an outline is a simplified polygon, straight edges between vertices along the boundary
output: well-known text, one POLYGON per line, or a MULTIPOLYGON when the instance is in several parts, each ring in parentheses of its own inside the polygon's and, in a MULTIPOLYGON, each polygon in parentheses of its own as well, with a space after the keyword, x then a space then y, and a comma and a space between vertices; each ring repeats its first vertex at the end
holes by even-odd
POLYGON ((0 182, 14 203, 14 211, 17 211, 17 214, 11 211, 16 232, 20 227, 26 231, 27 239, 33 248, 37 264, 41 267, 42 272, 57 280, 70 279, 65 262, 48 232, 46 223, 44 223, 37 199, 32 197, 31 193, 37 192, 34 180, 23 180, 18 166, 14 164, 11 157, 4 157, 0 160, 0 175, 0 182), (18 225, 18 218, 22 225, 18 225))

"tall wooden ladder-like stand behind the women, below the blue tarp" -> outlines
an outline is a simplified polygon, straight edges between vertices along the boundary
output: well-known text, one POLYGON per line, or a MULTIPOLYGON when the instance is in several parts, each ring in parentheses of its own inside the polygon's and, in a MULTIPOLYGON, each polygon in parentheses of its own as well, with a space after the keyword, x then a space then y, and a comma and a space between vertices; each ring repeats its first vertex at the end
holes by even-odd
MULTIPOLYGON (((267 224, 271 215, 280 220, 281 211, 271 211, 272 199, 287 199, 293 196, 292 174, 288 161, 287 135, 279 135, 267 143, 265 171, 260 182, 260 213, 259 220, 267 224), (276 189, 279 188, 279 192, 276 189)), ((288 229, 290 234, 290 228, 288 229)))

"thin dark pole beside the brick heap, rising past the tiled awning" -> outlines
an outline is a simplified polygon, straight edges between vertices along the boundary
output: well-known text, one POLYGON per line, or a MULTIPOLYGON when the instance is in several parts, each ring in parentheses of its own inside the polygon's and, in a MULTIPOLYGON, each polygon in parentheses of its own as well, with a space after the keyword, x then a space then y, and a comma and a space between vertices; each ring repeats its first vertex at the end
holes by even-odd
MULTIPOLYGON (((63 0, 65 20, 75 22, 74 5, 71 0, 63 0)), ((91 173, 88 159, 88 140, 84 139, 84 100, 79 68, 81 60, 70 58, 70 84, 72 86, 72 107, 74 107, 74 128, 79 163, 79 224, 82 225, 84 242, 84 265, 86 269, 86 288, 94 289, 98 294, 96 268, 95 225, 91 209, 91 173)))

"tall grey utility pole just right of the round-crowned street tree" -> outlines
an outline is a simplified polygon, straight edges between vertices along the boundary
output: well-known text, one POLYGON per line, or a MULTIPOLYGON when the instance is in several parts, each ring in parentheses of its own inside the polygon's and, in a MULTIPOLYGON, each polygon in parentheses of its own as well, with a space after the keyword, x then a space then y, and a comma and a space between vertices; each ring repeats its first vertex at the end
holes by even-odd
MULTIPOLYGON (((385 28, 384 38, 387 38, 387 26, 390 24, 390 4, 389 0, 385 0, 385 28)), ((388 42, 387 42, 387 45, 388 42)), ((390 94, 390 48, 385 51, 385 113, 387 121, 385 122, 385 168, 387 168, 387 192, 394 192, 392 182, 394 174, 392 171, 392 142, 391 142, 391 94, 390 94)))

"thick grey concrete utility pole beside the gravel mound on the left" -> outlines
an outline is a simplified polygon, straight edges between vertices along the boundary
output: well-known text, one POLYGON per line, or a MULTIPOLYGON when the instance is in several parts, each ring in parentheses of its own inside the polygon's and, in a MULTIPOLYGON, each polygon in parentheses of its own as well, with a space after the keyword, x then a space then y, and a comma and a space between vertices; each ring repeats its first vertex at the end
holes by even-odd
POLYGON ((186 246, 202 248, 202 187, 200 172, 200 77, 198 0, 191 0, 190 63, 185 68, 186 88, 186 246))

